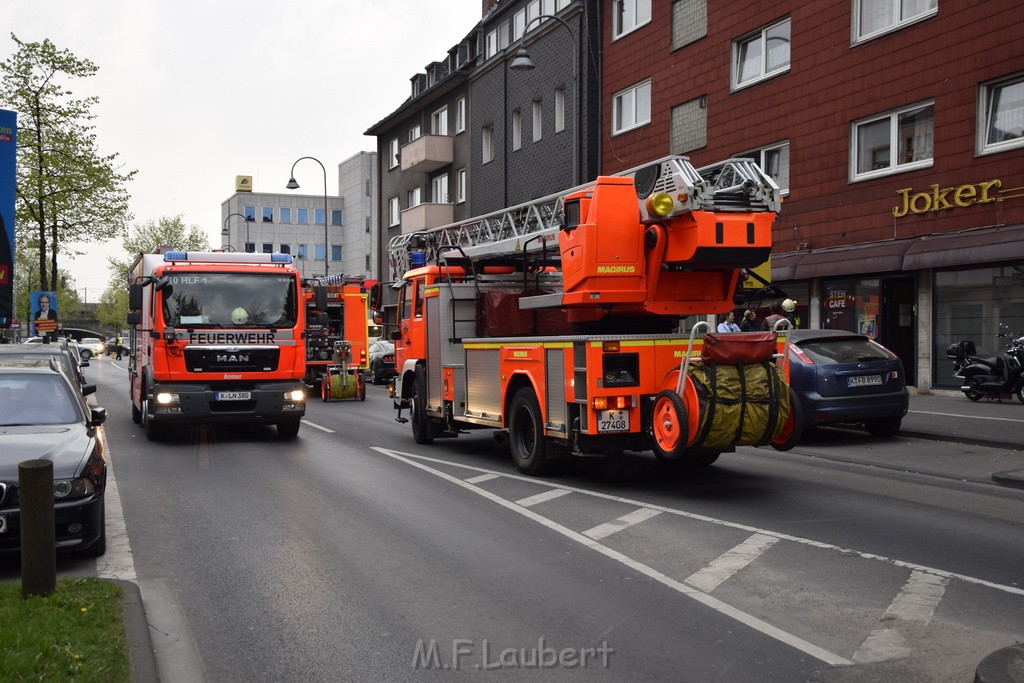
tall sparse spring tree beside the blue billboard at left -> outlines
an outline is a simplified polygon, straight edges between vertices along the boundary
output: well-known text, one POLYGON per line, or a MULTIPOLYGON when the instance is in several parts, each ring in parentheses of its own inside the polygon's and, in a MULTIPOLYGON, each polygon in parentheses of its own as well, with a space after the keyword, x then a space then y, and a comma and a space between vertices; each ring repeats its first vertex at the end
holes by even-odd
POLYGON ((125 185, 135 171, 99 154, 91 123, 98 98, 75 98, 63 84, 98 68, 49 40, 10 37, 17 50, 0 62, 0 100, 18 113, 16 228, 35 244, 40 288, 53 289, 62 245, 123 233, 131 218, 125 185))

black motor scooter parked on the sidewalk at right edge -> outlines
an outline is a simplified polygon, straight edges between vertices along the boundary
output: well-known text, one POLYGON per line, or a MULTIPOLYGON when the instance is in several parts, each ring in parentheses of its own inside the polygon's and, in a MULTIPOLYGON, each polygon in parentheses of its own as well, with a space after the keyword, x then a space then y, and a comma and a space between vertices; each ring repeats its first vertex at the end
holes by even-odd
POLYGON ((1017 396, 1024 403, 1024 336, 999 327, 1004 332, 997 336, 1011 339, 1001 355, 979 354, 974 342, 965 339, 950 344, 946 357, 953 359, 953 376, 964 381, 961 391, 971 400, 1017 396))

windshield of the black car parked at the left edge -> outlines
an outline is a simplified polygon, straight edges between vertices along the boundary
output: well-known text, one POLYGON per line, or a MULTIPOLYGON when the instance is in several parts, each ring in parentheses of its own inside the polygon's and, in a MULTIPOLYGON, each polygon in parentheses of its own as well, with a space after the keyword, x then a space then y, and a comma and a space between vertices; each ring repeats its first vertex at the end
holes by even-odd
POLYGON ((0 375, 0 427, 65 425, 81 419, 78 403, 59 376, 0 375))

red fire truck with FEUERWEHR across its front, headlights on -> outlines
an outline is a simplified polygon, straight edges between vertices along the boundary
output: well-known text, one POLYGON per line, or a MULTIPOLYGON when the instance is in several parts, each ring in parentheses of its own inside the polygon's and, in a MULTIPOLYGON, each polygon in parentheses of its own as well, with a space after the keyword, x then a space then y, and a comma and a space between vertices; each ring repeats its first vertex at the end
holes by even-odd
POLYGON ((258 422, 293 437, 305 414, 305 308, 287 254, 141 254, 129 273, 132 420, 258 422))

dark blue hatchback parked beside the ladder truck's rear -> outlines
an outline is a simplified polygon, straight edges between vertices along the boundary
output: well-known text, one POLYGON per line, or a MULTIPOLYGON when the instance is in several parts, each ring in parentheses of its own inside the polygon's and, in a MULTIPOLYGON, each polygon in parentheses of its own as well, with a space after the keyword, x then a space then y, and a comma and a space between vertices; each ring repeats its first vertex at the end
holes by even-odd
POLYGON ((899 431, 909 407, 899 357, 864 335, 842 330, 790 333, 790 384, 804 427, 859 424, 873 436, 899 431))

